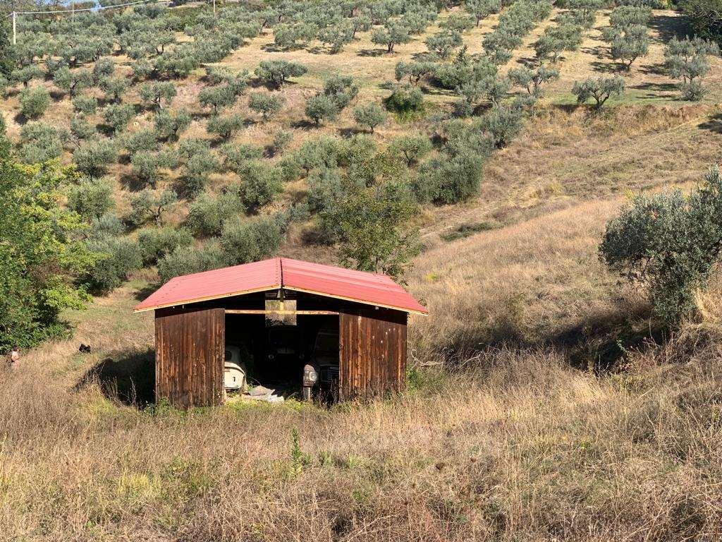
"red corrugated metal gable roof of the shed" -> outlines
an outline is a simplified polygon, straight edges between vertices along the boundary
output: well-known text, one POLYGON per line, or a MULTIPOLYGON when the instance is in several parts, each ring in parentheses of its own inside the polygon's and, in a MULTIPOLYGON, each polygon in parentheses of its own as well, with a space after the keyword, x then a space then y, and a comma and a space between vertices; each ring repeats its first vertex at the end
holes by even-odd
POLYGON ((266 259, 173 278, 135 310, 160 309, 277 288, 427 314, 425 306, 386 275, 289 258, 266 259))

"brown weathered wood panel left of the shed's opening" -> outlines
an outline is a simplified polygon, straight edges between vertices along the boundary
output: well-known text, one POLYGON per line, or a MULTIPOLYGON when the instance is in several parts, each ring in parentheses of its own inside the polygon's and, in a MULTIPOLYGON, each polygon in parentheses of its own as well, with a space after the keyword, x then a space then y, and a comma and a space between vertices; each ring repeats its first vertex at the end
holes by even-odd
POLYGON ((155 314, 155 397, 178 408, 223 400, 224 309, 155 314))

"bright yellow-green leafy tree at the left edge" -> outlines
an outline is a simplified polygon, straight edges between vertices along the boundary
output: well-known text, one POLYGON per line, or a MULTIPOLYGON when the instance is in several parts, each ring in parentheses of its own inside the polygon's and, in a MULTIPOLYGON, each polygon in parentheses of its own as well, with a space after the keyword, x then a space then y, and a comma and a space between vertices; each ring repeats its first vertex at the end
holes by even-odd
POLYGON ((65 335, 61 311, 89 301, 74 278, 95 257, 77 241, 78 215, 57 205, 71 179, 69 168, 21 166, 0 150, 1 349, 65 335))

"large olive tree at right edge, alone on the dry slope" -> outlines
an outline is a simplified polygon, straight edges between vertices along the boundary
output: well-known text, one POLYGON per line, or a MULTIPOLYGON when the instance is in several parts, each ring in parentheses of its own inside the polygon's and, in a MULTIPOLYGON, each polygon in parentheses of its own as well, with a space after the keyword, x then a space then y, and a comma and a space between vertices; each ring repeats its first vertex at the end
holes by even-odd
POLYGON ((685 197, 680 190, 638 195, 607 225, 602 262, 646 288, 655 313, 668 324, 696 312, 722 250, 722 175, 710 168, 685 197))

